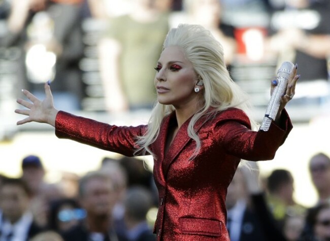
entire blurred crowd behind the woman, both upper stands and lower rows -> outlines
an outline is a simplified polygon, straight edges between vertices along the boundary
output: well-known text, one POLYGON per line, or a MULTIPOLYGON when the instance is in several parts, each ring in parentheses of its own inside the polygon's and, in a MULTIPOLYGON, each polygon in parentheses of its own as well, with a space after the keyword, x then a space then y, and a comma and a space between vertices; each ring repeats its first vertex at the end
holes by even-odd
MULTIPOLYGON (((150 110, 153 68, 179 23, 210 29, 233 80, 267 93, 254 104, 267 104, 283 61, 298 63, 301 74, 292 105, 329 103, 328 0, 1 0, 0 117, 13 112, 8 103, 22 88, 42 97, 47 80, 58 109, 150 110)), ((31 155, 21 176, 0 175, 0 241, 155 240, 152 172, 135 158, 101 163, 47 183, 31 155)), ((305 207, 293 198, 289 170, 260 177, 253 163, 242 166, 228 188, 230 239, 330 240, 329 157, 313 156, 309 171, 319 200, 305 207)))

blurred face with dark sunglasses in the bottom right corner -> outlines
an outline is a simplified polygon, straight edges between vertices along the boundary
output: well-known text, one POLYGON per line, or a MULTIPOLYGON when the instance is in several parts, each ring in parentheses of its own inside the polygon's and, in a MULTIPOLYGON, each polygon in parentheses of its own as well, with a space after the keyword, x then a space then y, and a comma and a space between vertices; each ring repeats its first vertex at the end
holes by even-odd
POLYGON ((316 217, 314 232, 318 240, 330 240, 330 208, 320 210, 316 217))

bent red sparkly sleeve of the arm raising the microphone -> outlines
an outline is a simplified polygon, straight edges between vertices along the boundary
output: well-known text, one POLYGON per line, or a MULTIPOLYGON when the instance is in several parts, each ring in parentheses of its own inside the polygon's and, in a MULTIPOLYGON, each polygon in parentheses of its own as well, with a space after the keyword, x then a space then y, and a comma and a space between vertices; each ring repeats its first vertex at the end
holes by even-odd
POLYGON ((290 118, 282 111, 279 125, 272 122, 270 129, 251 131, 248 117, 240 113, 236 119, 218 123, 216 134, 219 144, 229 155, 249 161, 272 160, 292 129, 290 118))

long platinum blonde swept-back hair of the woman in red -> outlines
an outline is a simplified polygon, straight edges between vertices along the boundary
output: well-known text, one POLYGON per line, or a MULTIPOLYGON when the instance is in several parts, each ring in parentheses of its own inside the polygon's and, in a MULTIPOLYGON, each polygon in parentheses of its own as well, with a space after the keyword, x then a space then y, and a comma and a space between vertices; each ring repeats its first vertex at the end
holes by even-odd
MULTIPOLYGON (((224 64, 221 44, 206 28, 201 25, 179 24, 177 28, 169 31, 163 43, 163 50, 169 46, 182 48, 185 57, 191 62, 196 74, 201 76, 204 83, 202 108, 192 116, 188 125, 188 136, 196 142, 196 148, 190 158, 193 159, 201 149, 201 141, 194 130, 197 120, 203 115, 208 114, 211 117, 218 111, 230 107, 242 109, 249 115, 250 105, 247 95, 229 76, 224 64), (210 107, 213 107, 212 111, 210 107)), ((153 154, 149 146, 158 137, 162 119, 174 110, 172 105, 156 103, 151 112, 147 132, 138 137, 137 143, 140 148, 137 153, 153 154)), ((251 118, 250 122, 254 123, 251 118)))

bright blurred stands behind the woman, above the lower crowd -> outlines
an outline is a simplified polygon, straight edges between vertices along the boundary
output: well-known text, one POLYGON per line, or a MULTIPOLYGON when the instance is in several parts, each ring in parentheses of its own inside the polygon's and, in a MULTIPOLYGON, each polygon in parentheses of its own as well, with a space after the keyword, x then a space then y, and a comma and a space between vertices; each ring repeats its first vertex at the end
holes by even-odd
MULTIPOLYGON (((51 81, 55 107, 115 125, 147 123, 155 100, 154 67, 171 27, 198 23, 224 47, 233 80, 251 97, 260 122, 270 81, 283 61, 301 78, 287 111, 293 130, 260 174, 289 170, 294 198, 309 207, 317 193, 310 158, 330 155, 330 4, 327 0, 1 0, 0 173, 21 175, 37 155, 48 183, 83 175, 105 157, 90 146, 59 140, 47 125, 16 126, 21 89, 43 98, 51 81)), ((145 158, 152 169, 152 160, 145 158)))

